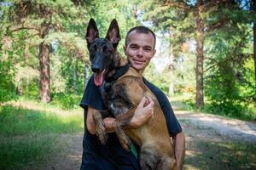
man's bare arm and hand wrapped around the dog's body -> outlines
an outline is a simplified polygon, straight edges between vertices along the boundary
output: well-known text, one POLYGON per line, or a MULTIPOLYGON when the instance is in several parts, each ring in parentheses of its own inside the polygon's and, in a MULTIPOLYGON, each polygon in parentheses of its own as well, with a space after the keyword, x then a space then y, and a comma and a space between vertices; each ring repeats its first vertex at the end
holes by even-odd
MULTIPOLYGON (((95 123, 92 117, 93 111, 96 111, 96 110, 91 107, 88 107, 86 127, 91 134, 96 134, 95 123)), ((146 99, 145 97, 143 97, 139 105, 137 105, 137 109, 131 118, 131 122, 129 122, 129 124, 125 126, 125 129, 137 128, 142 126, 145 122, 148 122, 148 120, 153 116, 153 114, 154 114, 154 101, 152 99, 149 99, 149 98, 146 99)), ((114 120, 115 118, 113 117, 107 117, 103 119, 104 125, 108 133, 113 132, 114 120)))

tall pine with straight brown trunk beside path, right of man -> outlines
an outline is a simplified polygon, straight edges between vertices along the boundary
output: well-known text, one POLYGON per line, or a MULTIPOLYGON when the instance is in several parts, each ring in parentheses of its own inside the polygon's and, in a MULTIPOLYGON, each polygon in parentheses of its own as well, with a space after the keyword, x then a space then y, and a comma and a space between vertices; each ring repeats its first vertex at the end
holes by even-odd
MULTIPOLYGON (((196 95, 195 106, 201 109, 204 105, 204 85, 203 85, 203 66, 204 66, 204 41, 206 34, 224 26, 225 17, 219 14, 220 6, 228 7, 233 1, 152 1, 144 3, 145 18, 152 20, 158 29, 168 31, 171 27, 177 33, 171 37, 171 48, 173 54, 181 50, 183 42, 196 42, 196 95), (148 8, 149 6, 149 8, 148 8), (212 14, 218 13, 218 18, 212 14), (212 21, 213 20, 213 21, 212 21), (181 33, 182 32, 182 33, 181 33), (178 47, 179 46, 179 47, 178 47)), ((170 33, 170 36, 172 34, 170 33)))

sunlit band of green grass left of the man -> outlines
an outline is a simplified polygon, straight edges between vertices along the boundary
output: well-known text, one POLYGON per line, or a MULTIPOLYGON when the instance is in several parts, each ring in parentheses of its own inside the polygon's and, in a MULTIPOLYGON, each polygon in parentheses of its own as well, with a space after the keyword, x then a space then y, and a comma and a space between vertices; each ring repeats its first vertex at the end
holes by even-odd
POLYGON ((3 106, 0 111, 0 134, 75 133, 83 129, 81 117, 61 117, 45 111, 3 106), (10 126, 11 125, 11 126, 10 126))

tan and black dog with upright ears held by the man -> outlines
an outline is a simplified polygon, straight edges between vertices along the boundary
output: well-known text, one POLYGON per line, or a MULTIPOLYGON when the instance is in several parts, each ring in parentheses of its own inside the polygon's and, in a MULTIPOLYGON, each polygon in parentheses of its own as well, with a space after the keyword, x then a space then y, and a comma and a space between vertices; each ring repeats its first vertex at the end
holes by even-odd
MULTIPOLYGON (((131 144, 126 134, 140 146, 139 161, 143 170, 176 169, 172 141, 166 126, 166 119, 154 94, 146 87, 135 69, 118 52, 119 26, 112 20, 106 38, 100 38, 96 22, 90 19, 85 35, 90 52, 91 70, 96 86, 108 111, 116 118, 113 123, 120 144, 129 150, 131 144), (150 97, 154 100, 154 117, 142 127, 123 130, 131 121, 140 100, 150 97)), ((103 111, 105 112, 105 111, 103 111)), ((107 132, 102 122, 101 111, 93 112, 96 134, 105 144, 107 132)))

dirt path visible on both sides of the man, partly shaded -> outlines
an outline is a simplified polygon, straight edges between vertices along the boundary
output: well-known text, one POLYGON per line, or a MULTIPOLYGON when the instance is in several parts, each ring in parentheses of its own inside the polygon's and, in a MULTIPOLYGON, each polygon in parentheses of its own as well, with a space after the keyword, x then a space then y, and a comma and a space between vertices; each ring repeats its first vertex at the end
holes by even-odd
MULTIPOLYGON (((176 111, 175 113, 186 135, 184 169, 256 169, 256 164, 251 161, 256 159, 256 153, 249 153, 250 149, 239 148, 241 144, 236 146, 237 149, 228 147, 228 144, 233 144, 234 141, 255 145, 255 123, 222 116, 191 114, 185 111, 176 111), (250 155, 250 158, 247 158, 247 154, 250 155), (236 161, 232 155, 235 156, 236 161), (248 163, 244 163, 247 161, 248 163)), ((64 141, 66 149, 42 169, 79 169, 83 133, 61 135, 60 138, 61 141, 64 141)))

